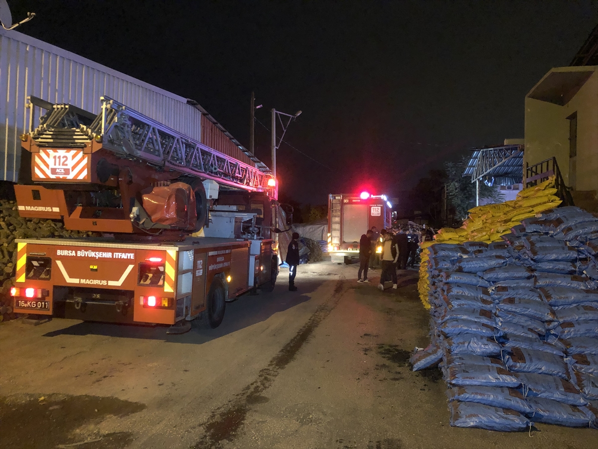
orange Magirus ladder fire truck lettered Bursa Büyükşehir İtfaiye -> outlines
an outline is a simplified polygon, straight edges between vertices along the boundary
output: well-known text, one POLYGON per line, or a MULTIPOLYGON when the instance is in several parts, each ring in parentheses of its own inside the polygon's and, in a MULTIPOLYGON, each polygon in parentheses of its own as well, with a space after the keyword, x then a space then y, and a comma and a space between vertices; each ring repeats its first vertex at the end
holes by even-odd
POLYGON ((30 114, 47 112, 22 136, 19 213, 99 236, 17 240, 14 311, 178 333, 273 289, 290 216, 270 170, 100 102, 96 116, 30 98, 30 114))

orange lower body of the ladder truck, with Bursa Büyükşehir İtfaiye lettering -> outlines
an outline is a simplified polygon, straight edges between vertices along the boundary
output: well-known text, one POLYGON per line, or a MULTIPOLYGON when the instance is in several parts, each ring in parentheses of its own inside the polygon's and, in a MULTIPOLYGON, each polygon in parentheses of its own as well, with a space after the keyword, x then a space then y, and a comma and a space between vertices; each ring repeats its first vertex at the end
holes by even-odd
POLYGON ((27 239, 17 245, 16 313, 56 315, 62 307, 69 318, 80 315, 81 320, 175 324, 205 310, 206 294, 217 276, 227 286, 228 299, 251 288, 248 241, 27 239), (150 297, 154 307, 148 305, 150 297), (101 317, 93 315, 92 306, 103 310, 101 317), (105 318, 106 310, 116 314, 114 320, 105 318))

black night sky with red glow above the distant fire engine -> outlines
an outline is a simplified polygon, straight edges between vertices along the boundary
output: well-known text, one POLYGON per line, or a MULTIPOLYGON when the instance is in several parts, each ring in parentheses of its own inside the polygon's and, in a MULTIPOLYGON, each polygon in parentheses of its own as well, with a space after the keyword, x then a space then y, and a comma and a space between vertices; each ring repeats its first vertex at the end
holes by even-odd
MULTIPOLYGON (((397 195, 475 146, 523 137, 524 96, 566 66, 597 1, 16 1, 20 32, 198 101, 249 147, 249 99, 303 114, 281 192, 397 195)), ((270 165, 270 135, 256 123, 270 165)))

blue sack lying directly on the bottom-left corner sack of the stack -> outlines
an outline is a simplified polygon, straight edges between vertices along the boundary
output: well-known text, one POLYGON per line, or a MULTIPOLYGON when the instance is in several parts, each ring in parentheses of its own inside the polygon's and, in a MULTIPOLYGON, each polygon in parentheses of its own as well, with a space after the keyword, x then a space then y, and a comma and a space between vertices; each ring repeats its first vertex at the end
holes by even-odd
POLYGON ((533 413, 519 390, 506 387, 467 386, 447 390, 449 402, 477 402, 492 407, 508 408, 520 413, 533 413))

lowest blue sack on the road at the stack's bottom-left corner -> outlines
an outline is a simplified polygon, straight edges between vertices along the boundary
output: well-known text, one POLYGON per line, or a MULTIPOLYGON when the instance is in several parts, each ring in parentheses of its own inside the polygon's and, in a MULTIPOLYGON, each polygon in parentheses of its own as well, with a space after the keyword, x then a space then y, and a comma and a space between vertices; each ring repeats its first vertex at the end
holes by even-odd
POLYGON ((478 427, 499 432, 517 432, 532 426, 526 417, 508 408, 460 401, 450 402, 449 407, 450 425, 453 427, 478 427))

